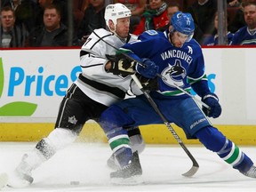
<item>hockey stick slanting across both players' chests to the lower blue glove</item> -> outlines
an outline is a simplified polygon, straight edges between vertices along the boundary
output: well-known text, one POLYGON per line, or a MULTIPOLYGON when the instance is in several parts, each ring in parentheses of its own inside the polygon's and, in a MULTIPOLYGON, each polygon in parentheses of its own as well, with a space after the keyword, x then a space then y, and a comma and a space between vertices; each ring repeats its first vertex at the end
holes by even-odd
MULTIPOLYGON (((112 45, 109 44, 107 41, 105 41, 103 38, 101 38, 94 30, 92 31, 92 33, 97 36, 101 41, 103 41, 105 44, 108 44, 109 46, 111 46, 112 48, 114 48, 116 51, 119 51, 119 49, 112 45)), ((130 60, 134 60, 135 62, 137 62, 140 66, 145 67, 145 65, 143 63, 141 63, 139 60, 135 60, 134 58, 132 58, 130 55, 126 54, 125 52, 120 52, 120 54, 123 54, 124 57, 130 59, 130 60)), ((163 78, 166 80, 166 78, 160 74, 157 74, 158 77, 163 78)), ((179 89, 181 92, 184 92, 185 94, 187 94, 189 97, 191 97, 192 99, 196 100, 198 103, 200 103, 201 105, 203 105, 205 108, 208 108, 209 110, 211 109, 208 105, 206 105, 202 100, 198 100, 195 96, 189 94, 188 92, 186 92, 184 89, 180 88, 180 86, 178 86, 177 84, 172 84, 173 86, 175 86, 177 89, 179 89)))

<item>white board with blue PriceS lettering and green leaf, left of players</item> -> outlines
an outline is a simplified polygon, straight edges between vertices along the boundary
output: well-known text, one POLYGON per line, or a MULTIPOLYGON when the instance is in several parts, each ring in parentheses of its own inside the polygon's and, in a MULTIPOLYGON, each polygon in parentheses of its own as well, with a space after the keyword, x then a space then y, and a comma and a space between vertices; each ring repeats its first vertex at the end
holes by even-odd
POLYGON ((0 51, 0 122, 54 122, 79 50, 0 51))

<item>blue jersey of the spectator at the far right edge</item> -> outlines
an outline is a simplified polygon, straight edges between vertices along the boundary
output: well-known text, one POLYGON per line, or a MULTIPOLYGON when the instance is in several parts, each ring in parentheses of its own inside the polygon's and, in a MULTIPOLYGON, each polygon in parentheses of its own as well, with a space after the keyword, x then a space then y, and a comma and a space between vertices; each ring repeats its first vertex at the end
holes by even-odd
POLYGON ((256 30, 249 31, 249 28, 245 26, 236 31, 232 38, 231 45, 243 45, 243 44, 256 44, 256 30))

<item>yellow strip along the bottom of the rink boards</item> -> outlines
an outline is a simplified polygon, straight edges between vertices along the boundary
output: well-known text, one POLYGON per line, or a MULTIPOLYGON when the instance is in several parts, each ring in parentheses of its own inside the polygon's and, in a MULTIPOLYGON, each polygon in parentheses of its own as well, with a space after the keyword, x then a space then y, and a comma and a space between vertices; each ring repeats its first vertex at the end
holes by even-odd
MULTIPOLYGON (((0 124, 1 141, 36 141, 46 137, 52 132, 54 124, 27 124, 2 123, 0 124)), ((198 144, 198 140, 187 140, 184 132, 172 125, 175 132, 184 143, 198 144)), ((256 145, 255 126, 251 125, 216 125, 228 139, 240 145, 256 145)), ((140 131, 146 143, 150 144, 177 144, 172 133, 164 124, 140 126, 140 131)), ((107 142, 107 138, 100 126, 96 123, 87 123, 78 139, 84 142, 107 142)))

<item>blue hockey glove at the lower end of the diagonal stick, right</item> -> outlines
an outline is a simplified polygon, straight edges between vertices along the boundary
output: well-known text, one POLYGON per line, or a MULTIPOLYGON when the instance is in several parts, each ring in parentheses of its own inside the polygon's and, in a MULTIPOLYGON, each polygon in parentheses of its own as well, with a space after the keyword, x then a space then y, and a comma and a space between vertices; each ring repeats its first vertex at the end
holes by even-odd
POLYGON ((214 93, 208 93, 204 95, 202 101, 208 105, 210 108, 205 108, 203 106, 203 111, 206 116, 217 118, 221 114, 221 107, 219 103, 219 98, 214 93))

